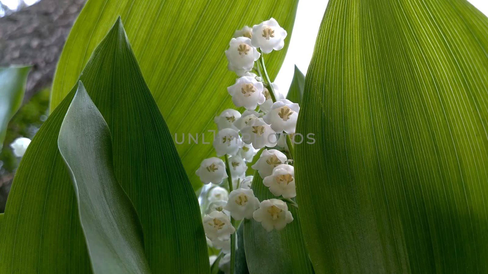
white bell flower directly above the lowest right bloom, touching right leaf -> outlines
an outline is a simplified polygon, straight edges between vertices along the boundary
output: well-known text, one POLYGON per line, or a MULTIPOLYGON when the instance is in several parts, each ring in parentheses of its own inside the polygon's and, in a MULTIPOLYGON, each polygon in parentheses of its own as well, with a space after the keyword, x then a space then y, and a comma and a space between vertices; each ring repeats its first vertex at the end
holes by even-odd
POLYGON ((281 164, 275 167, 270 176, 264 177, 263 184, 269 187, 269 191, 274 196, 283 195, 284 198, 297 196, 295 169, 292 165, 281 164))

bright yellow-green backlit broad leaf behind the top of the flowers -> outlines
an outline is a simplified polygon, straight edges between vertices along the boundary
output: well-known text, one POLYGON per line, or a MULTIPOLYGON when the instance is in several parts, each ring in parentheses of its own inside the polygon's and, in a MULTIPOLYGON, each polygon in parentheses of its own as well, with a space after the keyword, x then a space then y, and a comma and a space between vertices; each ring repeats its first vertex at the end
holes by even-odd
POLYGON ((265 55, 271 79, 278 74, 291 37, 298 0, 88 0, 61 53, 53 81, 51 110, 68 94, 95 46, 121 15, 142 75, 177 144, 195 189, 195 171, 214 156, 213 118, 235 108, 227 87, 236 75, 227 70, 224 51, 236 29, 275 18, 288 32, 285 48, 265 55), (198 134, 198 144, 189 134, 198 134))

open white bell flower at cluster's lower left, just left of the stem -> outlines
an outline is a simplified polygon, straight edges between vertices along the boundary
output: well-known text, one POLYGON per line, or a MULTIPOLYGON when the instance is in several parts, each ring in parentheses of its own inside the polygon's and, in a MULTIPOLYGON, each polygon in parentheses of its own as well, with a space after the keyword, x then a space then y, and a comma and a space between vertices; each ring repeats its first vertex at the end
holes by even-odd
POLYGON ((236 229, 230 223, 230 217, 223 212, 214 211, 203 217, 203 230, 205 235, 211 240, 227 240, 236 229))

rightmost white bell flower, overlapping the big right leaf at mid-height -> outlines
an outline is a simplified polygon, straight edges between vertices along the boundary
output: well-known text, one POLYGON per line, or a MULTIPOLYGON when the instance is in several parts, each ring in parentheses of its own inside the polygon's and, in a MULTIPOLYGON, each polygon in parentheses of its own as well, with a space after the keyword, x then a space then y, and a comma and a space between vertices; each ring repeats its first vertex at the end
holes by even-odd
POLYGON ((300 106, 288 99, 276 101, 271 110, 263 117, 264 122, 271 125, 276 133, 295 133, 300 106))

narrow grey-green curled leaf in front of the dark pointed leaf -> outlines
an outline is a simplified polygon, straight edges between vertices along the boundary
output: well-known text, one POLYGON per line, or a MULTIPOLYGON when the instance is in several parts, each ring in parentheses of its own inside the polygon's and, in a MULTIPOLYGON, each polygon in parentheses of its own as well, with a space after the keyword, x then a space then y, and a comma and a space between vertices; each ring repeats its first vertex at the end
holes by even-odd
POLYGON ((81 81, 58 147, 73 179, 93 271, 149 273, 141 223, 115 177, 110 130, 81 81))

